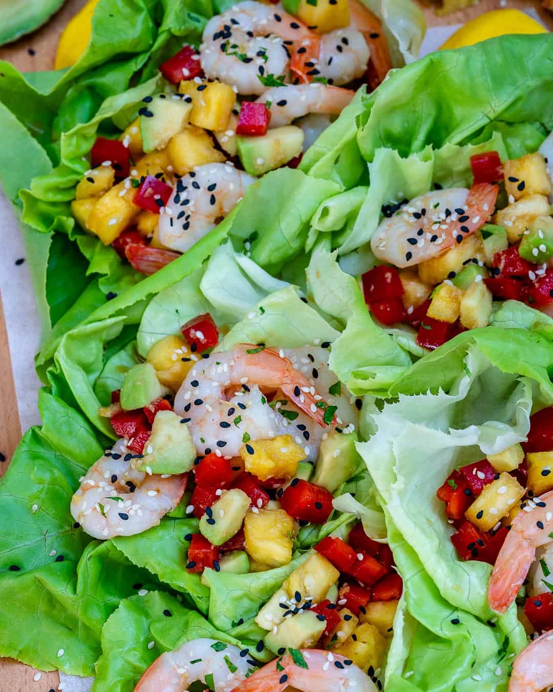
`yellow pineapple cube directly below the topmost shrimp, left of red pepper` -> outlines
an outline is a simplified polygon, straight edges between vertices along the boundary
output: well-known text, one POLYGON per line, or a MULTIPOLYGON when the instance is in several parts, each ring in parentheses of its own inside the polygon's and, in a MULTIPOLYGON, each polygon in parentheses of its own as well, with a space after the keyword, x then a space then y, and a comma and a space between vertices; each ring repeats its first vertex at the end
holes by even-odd
POLYGON ((227 129, 236 103, 236 93, 232 86, 221 82, 196 84, 192 80, 185 80, 180 82, 178 91, 189 95, 192 99, 189 115, 192 125, 215 131, 227 129))

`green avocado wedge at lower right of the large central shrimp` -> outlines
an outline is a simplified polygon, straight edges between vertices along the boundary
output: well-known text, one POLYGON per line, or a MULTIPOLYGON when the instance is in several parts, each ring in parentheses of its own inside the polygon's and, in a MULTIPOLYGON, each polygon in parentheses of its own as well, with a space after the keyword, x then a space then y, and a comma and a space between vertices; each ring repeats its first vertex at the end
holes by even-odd
POLYGON ((328 437, 321 441, 312 482, 323 486, 330 493, 346 482, 359 463, 355 442, 355 432, 329 432, 328 437))

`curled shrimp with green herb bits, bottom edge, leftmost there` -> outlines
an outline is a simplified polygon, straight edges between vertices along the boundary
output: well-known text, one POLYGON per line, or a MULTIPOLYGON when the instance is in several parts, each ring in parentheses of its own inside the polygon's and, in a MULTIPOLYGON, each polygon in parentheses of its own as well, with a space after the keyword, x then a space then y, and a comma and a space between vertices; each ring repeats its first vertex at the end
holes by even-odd
POLYGON ((244 650, 216 639, 193 639, 166 651, 147 668, 134 692, 184 692, 193 682, 213 675, 215 692, 230 692, 254 668, 244 650), (241 655, 242 654, 242 655, 241 655), (233 672, 234 671, 234 672, 233 672))

